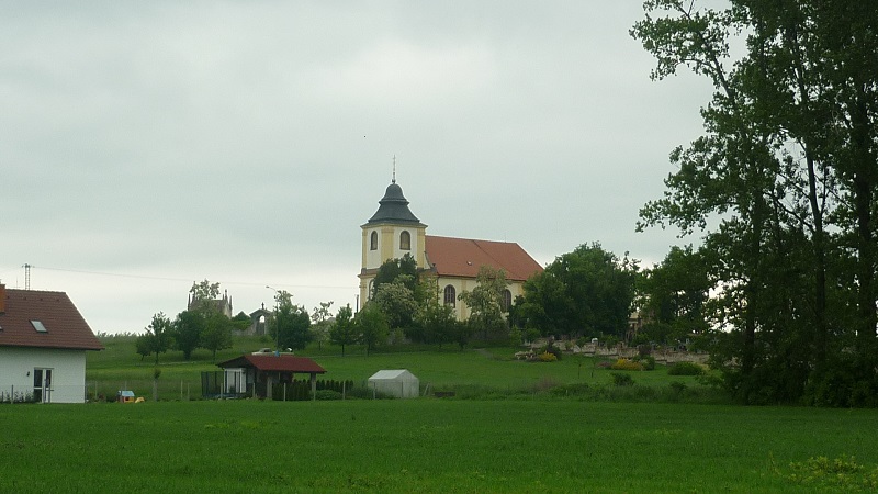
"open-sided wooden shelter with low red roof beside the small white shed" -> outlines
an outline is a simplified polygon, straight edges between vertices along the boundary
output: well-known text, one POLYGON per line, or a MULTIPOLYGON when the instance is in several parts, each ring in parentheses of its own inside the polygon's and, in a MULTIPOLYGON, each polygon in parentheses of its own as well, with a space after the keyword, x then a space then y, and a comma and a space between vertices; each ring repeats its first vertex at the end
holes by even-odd
POLYGON ((243 355, 217 366, 225 371, 224 393, 259 397, 270 397, 274 384, 293 382, 294 374, 308 374, 313 396, 317 374, 326 373, 314 360, 292 355, 243 355))

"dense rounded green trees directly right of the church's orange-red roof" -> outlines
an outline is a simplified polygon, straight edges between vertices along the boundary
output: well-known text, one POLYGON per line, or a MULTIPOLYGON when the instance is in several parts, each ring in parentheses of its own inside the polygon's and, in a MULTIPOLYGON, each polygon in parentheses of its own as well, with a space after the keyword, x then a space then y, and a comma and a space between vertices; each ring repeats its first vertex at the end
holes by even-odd
POLYGON ((581 245, 525 282, 520 317, 542 335, 623 337, 634 300, 638 266, 600 244, 581 245))

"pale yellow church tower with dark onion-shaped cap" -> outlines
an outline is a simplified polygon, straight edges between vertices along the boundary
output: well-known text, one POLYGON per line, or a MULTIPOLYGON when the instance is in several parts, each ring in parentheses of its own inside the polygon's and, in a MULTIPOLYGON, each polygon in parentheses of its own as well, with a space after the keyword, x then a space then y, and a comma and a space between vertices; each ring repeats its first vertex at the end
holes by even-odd
POLYGON ((369 300, 375 273, 387 259, 398 259, 409 254, 418 268, 427 267, 427 225, 412 214, 403 188, 396 183, 395 177, 379 201, 375 214, 360 228, 363 236, 360 304, 369 300))

